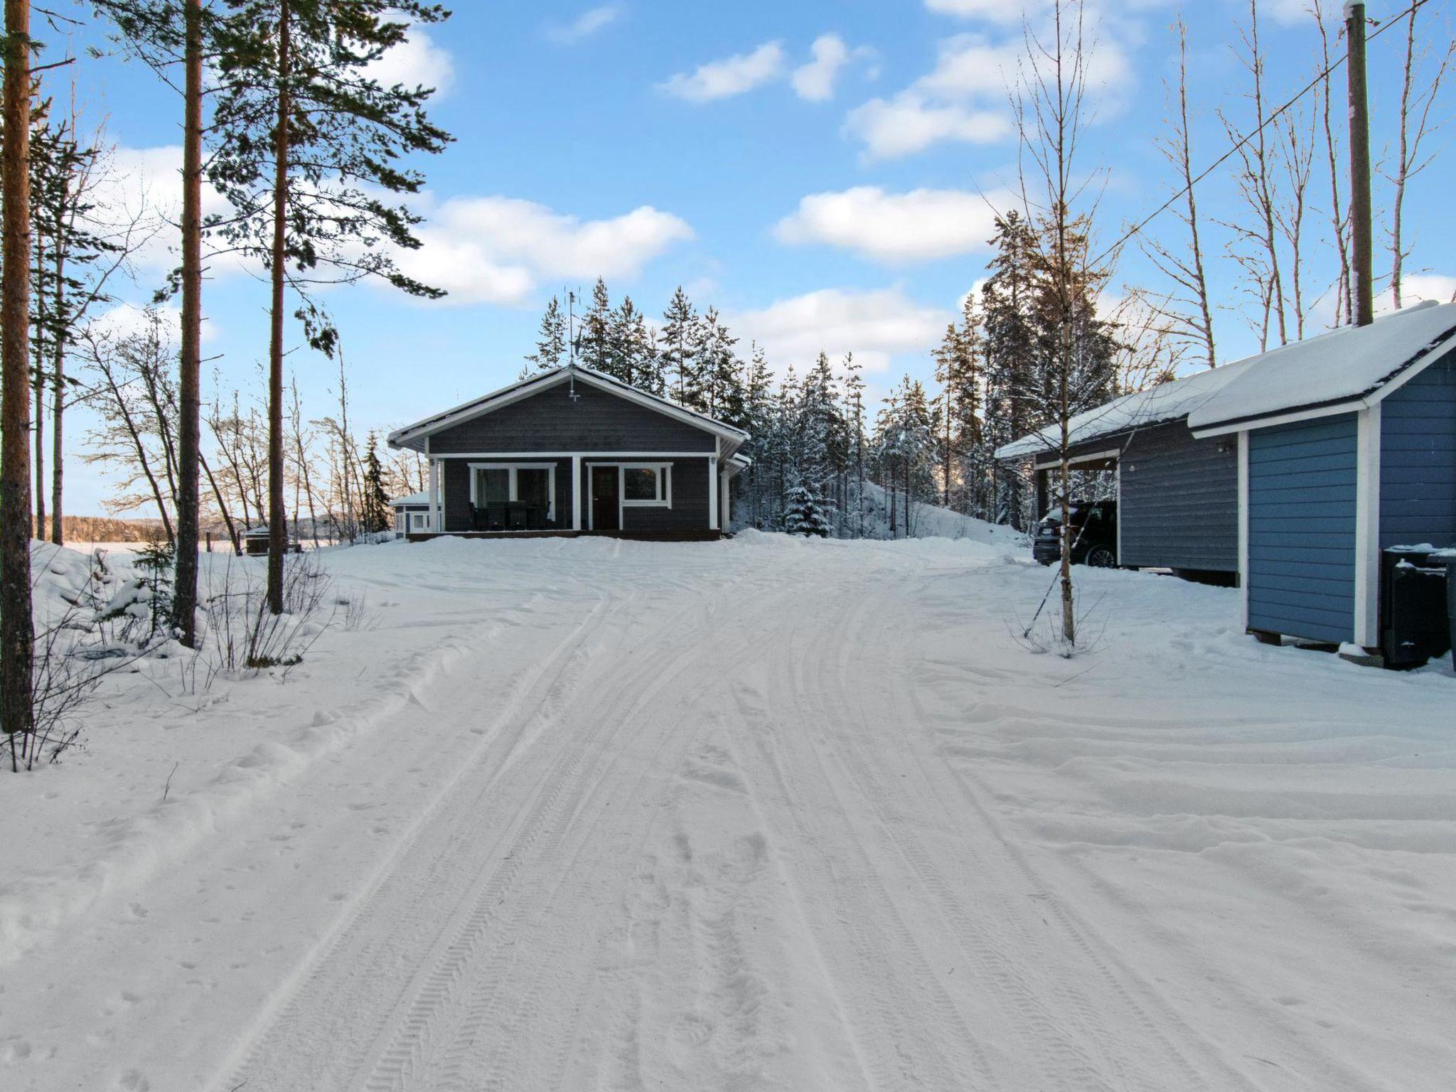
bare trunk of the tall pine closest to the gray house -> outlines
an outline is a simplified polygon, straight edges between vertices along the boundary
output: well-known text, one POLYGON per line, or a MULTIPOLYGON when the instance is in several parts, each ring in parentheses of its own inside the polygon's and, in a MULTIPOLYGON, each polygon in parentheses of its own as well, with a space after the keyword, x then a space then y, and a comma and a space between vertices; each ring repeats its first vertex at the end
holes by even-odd
POLYGON ((282 306, 288 201, 288 0, 278 4, 278 130, 274 134, 272 335, 268 344, 268 609, 282 613, 288 524, 282 499, 282 306))

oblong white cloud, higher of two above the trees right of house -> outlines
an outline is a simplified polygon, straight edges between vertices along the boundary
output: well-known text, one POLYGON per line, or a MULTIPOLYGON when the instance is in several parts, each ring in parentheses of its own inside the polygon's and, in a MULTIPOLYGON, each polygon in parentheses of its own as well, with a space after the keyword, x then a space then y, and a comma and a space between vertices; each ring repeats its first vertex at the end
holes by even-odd
POLYGON ((887 194, 879 186, 810 194, 798 211, 779 221, 785 243, 826 243, 881 262, 919 262, 987 250, 997 210, 1010 194, 964 189, 911 189, 887 194))

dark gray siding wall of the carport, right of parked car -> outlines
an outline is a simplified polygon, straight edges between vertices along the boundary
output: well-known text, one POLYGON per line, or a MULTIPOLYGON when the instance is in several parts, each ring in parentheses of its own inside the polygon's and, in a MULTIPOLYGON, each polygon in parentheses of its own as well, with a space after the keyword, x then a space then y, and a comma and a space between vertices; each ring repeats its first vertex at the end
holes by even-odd
POLYGON ((1239 571, 1239 448, 1185 421, 1143 428, 1121 459, 1123 565, 1239 571))

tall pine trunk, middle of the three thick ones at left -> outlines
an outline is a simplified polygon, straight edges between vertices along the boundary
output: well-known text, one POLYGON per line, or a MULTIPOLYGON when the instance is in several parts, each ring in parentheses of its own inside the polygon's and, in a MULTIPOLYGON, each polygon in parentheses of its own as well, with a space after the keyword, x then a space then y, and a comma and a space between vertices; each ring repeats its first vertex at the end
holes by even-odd
POLYGON ((182 355, 178 361, 178 549, 172 626, 197 644, 198 447, 202 371, 202 0, 186 0, 182 119, 182 355))

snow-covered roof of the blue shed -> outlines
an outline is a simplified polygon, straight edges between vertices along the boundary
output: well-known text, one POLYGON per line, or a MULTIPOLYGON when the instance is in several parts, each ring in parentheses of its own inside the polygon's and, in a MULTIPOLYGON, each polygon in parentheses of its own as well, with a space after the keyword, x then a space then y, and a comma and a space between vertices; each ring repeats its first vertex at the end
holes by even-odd
POLYGON ((1366 409, 1456 344, 1456 303, 1421 303, 1251 357, 1188 416, 1195 435, 1366 409))

